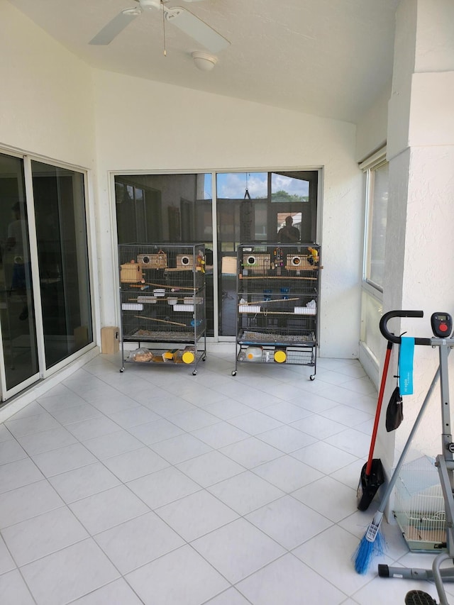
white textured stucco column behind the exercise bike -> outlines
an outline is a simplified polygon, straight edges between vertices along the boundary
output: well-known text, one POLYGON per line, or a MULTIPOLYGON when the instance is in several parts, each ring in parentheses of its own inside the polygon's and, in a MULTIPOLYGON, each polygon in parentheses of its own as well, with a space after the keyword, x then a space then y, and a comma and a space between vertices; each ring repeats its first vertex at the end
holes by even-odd
MULTIPOLYGON (((421 309, 422 319, 393 320, 395 333, 431 336, 430 316, 454 316, 454 2, 402 0, 396 14, 392 95, 388 108, 387 215, 384 311, 421 309)), ((384 355, 383 345, 383 355, 384 355)), ((397 373, 394 348, 389 374, 397 373)), ((451 357, 454 358, 454 355, 451 357)), ((454 359, 450 360, 450 366, 454 359)), ((417 347, 414 394, 404 397, 404 423, 386 433, 378 452, 387 471, 397 462, 436 372, 438 350, 417 347)), ((454 383, 454 372, 452 374, 454 383)), ((394 381, 388 382, 384 410, 394 381)), ((441 451, 436 390, 414 440, 414 452, 441 451)), ((454 407, 453 407, 454 409, 454 407)))

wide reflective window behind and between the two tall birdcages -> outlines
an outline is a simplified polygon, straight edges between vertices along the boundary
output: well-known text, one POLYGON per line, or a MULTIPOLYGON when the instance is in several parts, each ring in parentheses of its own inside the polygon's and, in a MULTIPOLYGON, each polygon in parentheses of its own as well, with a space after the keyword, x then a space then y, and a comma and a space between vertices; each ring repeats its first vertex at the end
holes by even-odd
POLYGON ((235 272, 222 267, 239 243, 277 242, 288 216, 301 242, 316 241, 318 170, 117 174, 114 182, 118 243, 206 245, 208 336, 236 333, 235 272))

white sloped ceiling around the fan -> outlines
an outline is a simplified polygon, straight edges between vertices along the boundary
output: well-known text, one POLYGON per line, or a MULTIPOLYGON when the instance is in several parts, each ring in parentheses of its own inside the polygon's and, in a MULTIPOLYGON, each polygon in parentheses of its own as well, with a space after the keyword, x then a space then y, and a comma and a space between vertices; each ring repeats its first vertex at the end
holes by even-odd
MULTIPOLYGON (((162 16, 142 13, 109 45, 89 45, 135 0, 9 0, 89 65, 355 123, 392 77, 399 0, 170 0, 230 40, 213 71, 207 52, 162 16)), ((131 103, 140 104, 131 91, 131 103)))

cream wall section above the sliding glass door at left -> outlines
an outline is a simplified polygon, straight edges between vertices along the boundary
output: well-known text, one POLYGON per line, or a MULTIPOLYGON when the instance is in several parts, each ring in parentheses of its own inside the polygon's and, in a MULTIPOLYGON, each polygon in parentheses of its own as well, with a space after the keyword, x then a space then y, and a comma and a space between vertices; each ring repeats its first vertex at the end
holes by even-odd
POLYGON ((0 56, 0 145, 92 168, 92 70, 9 2, 0 56))

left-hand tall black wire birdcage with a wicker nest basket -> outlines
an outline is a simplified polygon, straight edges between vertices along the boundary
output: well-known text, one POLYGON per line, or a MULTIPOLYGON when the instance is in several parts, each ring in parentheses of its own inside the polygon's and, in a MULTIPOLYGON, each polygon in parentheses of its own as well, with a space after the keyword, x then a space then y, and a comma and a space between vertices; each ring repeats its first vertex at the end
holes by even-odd
POLYGON ((128 361, 196 365, 204 360, 204 245, 121 244, 118 261, 122 371, 128 361), (125 357, 124 343, 128 342, 138 343, 138 349, 125 357), (172 347, 151 348, 150 343, 172 347))

